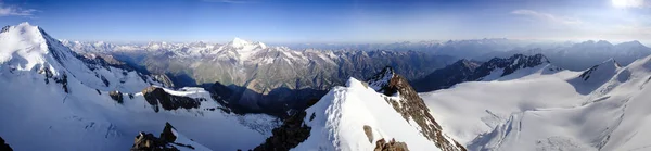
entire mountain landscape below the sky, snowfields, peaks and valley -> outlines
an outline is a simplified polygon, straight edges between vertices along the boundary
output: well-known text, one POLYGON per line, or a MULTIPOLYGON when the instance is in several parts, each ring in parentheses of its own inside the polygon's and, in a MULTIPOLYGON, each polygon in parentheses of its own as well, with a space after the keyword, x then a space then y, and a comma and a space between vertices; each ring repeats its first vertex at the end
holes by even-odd
POLYGON ((649 54, 604 40, 117 45, 22 23, 0 33, 0 150, 648 150, 649 54))

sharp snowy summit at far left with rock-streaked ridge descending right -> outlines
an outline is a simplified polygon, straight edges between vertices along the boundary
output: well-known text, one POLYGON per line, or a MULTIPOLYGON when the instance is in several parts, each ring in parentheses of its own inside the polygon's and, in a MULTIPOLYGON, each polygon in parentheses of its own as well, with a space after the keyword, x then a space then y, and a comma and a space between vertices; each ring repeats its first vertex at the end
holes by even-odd
POLYGON ((4 27, 0 35, 0 63, 7 74, 42 74, 41 80, 59 83, 66 92, 69 92, 67 79, 72 77, 89 88, 104 91, 136 92, 149 85, 162 85, 152 76, 110 64, 101 58, 74 53, 42 29, 27 23, 4 27))

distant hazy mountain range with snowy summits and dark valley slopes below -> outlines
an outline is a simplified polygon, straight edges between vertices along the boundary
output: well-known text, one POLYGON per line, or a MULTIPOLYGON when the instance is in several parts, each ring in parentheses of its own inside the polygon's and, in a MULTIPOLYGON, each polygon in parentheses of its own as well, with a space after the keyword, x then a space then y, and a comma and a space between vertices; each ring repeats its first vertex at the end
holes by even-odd
POLYGON ((384 66, 416 79, 455 60, 418 51, 292 50, 239 38, 226 45, 63 43, 80 53, 112 55, 143 73, 165 74, 176 87, 204 87, 246 113, 305 109, 306 100, 320 98, 349 77, 369 78, 384 66))

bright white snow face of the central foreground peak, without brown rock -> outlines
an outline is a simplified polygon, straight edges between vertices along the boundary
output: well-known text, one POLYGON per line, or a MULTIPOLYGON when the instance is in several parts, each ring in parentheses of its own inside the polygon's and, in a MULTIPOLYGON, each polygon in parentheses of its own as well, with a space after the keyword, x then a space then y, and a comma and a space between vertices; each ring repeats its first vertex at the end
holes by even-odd
POLYGON ((355 78, 348 79, 346 87, 335 87, 306 110, 305 122, 312 128, 310 137, 292 150, 368 151, 373 150, 375 141, 382 138, 405 142, 413 151, 438 150, 434 142, 405 121, 384 97, 355 78), (315 118, 310 121, 312 114, 315 118), (365 125, 372 128, 372 141, 363 131, 365 125))

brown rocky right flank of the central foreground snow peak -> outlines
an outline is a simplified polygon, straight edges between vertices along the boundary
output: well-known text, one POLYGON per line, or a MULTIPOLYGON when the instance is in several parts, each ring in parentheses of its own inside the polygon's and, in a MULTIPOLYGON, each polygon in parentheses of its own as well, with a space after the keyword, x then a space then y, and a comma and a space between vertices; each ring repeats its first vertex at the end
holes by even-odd
POLYGON ((451 139, 446 139, 442 128, 430 114, 430 109, 409 85, 406 78, 395 74, 392 67, 385 67, 380 74, 370 78, 369 86, 386 96, 399 96, 399 100, 385 98, 386 102, 403 115, 405 121, 413 119, 423 136, 444 151, 464 151, 465 148, 451 139))

